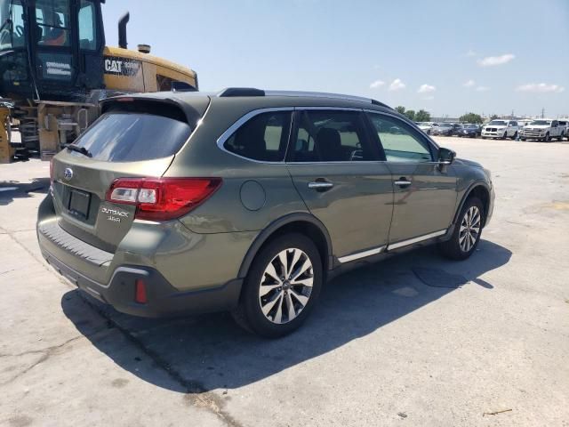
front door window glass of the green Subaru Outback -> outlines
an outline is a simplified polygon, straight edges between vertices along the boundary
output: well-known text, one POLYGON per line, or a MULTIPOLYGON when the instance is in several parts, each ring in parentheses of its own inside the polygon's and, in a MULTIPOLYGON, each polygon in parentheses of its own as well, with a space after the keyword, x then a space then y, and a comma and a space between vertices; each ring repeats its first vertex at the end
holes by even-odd
POLYGON ((431 162, 432 156, 426 141, 413 133, 409 125, 395 117, 369 114, 388 162, 431 162))

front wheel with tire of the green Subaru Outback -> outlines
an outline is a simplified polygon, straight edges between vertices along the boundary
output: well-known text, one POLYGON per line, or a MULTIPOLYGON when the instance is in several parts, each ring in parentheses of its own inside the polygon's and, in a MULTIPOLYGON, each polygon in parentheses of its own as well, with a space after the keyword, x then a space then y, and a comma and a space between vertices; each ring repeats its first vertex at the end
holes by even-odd
POLYGON ((461 261, 476 251, 484 218, 484 205, 478 197, 469 197, 462 206, 453 236, 438 246, 445 257, 461 261))

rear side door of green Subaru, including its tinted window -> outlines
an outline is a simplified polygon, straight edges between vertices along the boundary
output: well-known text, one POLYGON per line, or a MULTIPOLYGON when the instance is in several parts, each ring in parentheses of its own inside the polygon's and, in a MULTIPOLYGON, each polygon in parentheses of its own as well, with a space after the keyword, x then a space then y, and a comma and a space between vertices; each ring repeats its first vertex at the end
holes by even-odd
POLYGON ((311 214, 324 223, 333 254, 349 262, 387 245, 391 173, 358 109, 297 109, 287 166, 311 214))

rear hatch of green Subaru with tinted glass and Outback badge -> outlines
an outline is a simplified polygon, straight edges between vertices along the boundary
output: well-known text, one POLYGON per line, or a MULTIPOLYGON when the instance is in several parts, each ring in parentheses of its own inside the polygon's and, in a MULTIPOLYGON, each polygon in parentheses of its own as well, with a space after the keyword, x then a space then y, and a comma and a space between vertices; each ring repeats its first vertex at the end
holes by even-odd
POLYGON ((114 253, 132 226, 135 205, 107 200, 120 178, 161 177, 203 117, 206 96, 180 102, 120 98, 52 160, 52 197, 63 230, 114 253))

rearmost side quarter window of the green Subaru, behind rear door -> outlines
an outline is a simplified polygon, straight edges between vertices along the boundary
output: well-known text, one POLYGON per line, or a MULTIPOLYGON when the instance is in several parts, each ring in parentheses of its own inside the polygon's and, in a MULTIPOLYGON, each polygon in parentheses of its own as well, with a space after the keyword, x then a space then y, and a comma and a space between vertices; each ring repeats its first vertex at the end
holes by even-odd
POLYGON ((260 113, 239 127, 223 148, 262 162, 282 162, 291 124, 290 111, 260 113))

